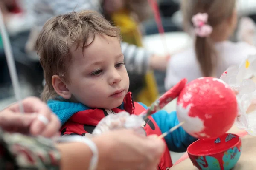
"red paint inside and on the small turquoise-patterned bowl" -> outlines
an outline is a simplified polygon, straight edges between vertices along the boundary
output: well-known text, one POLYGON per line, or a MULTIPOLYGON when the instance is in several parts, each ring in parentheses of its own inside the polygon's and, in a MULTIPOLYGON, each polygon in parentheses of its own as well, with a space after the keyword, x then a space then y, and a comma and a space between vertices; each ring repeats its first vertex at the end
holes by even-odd
MULTIPOLYGON (((189 158, 192 163, 196 167, 198 167, 198 169, 200 169, 200 166, 196 159, 199 159, 199 157, 203 157, 201 161, 203 161, 204 164, 200 164, 203 167, 208 167, 209 164, 211 164, 212 162, 207 162, 206 156, 211 156, 218 160, 221 170, 224 170, 223 156, 225 156, 227 150, 237 147, 239 152, 241 152, 241 139, 239 138, 239 136, 234 135, 235 138, 232 138, 230 141, 225 142, 227 135, 228 134, 225 133, 220 137, 220 143, 214 143, 215 139, 199 139, 196 142, 192 143, 187 149, 189 158)), ((230 159, 233 159, 235 155, 236 154, 231 155, 230 159)))

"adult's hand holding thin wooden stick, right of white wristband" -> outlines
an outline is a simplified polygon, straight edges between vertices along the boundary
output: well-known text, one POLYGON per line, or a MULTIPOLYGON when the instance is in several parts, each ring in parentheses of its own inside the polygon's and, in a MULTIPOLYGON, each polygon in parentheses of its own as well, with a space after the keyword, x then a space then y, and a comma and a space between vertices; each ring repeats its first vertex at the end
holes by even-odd
POLYGON ((92 139, 99 150, 98 170, 155 170, 165 149, 157 136, 114 130, 92 139))

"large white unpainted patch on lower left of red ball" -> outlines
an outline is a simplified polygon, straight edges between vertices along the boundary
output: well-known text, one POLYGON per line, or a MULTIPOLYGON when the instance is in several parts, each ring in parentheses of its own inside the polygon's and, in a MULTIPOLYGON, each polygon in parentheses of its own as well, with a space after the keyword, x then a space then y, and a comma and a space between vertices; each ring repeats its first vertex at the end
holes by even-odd
POLYGON ((180 122, 185 121, 182 127, 184 130, 186 130, 187 133, 194 134, 194 136, 197 136, 195 133, 199 134, 204 130, 204 121, 200 119, 198 116, 189 116, 189 111, 192 106, 192 104, 189 104, 187 105, 186 108, 183 108, 183 104, 178 104, 177 117, 180 122))

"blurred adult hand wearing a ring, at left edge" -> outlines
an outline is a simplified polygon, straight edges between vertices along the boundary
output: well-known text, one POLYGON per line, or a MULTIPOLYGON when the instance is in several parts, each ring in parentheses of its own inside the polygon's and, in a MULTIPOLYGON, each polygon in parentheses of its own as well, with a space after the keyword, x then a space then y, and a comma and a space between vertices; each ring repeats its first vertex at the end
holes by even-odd
POLYGON ((0 127, 9 132, 31 133, 52 137, 58 133, 61 122, 47 105, 36 97, 22 101, 24 114, 20 113, 19 103, 0 112, 0 127))

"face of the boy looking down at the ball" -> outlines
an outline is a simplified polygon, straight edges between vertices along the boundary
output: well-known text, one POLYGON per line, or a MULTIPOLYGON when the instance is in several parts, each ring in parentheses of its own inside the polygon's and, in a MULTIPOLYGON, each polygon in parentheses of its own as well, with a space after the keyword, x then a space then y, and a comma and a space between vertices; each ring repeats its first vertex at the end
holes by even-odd
POLYGON ((84 55, 82 48, 71 55, 70 83, 66 87, 72 97, 91 108, 120 106, 128 92, 129 77, 119 40, 96 34, 84 55))

